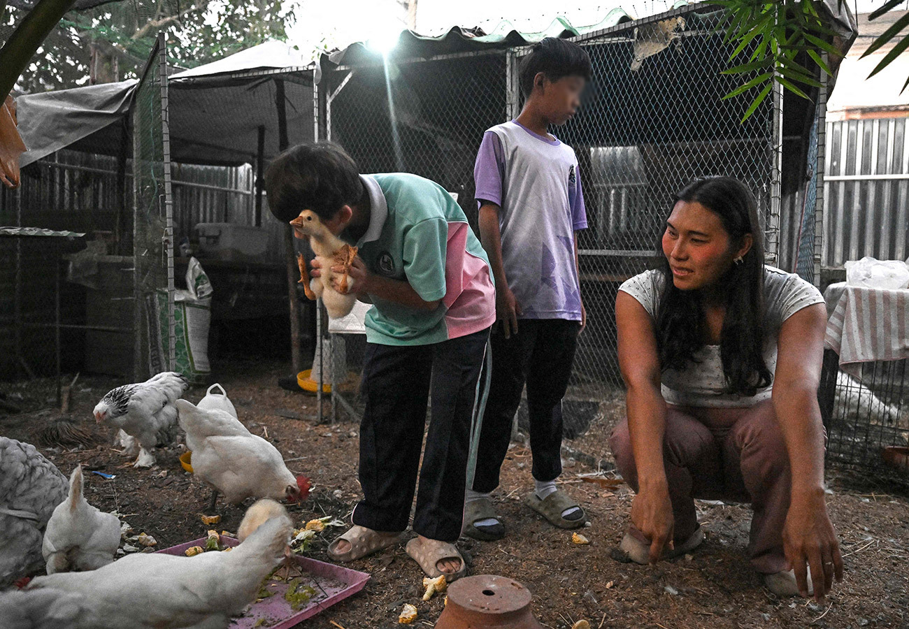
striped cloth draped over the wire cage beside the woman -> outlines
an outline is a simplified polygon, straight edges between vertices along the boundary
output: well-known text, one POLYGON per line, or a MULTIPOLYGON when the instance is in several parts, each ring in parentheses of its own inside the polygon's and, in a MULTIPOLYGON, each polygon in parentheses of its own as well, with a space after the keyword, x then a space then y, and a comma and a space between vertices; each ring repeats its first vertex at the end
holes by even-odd
POLYGON ((909 290, 830 285, 824 299, 828 312, 835 303, 824 347, 845 373, 861 378, 862 363, 909 358, 909 290))

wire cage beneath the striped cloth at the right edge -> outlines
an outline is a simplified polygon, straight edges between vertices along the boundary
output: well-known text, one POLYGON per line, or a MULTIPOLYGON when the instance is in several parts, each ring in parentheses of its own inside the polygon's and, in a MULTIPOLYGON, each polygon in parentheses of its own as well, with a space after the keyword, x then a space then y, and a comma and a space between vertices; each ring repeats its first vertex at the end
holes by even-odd
POLYGON ((838 362, 835 352, 824 352, 828 461, 909 483, 909 361, 866 363, 858 379, 838 362))

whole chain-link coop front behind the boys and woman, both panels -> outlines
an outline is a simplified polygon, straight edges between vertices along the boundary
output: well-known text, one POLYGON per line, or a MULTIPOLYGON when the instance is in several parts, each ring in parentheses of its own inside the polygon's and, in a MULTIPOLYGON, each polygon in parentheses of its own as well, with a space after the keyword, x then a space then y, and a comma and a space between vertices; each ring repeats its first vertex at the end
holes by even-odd
MULTIPOLYGON (((744 181, 774 260, 779 98, 741 122, 750 99, 722 97, 750 77, 721 74, 733 47, 717 33, 720 14, 703 11, 575 39, 591 56, 593 76, 578 114, 554 130, 578 157, 589 225, 579 235, 587 329, 564 404, 569 433, 583 432, 604 415, 604 400, 617 399, 615 295, 659 261, 657 240, 684 185, 702 175, 744 181)), ((529 50, 385 58, 325 71, 323 136, 343 145, 361 172, 405 171, 445 186, 475 229, 476 153, 486 129, 520 112, 517 68, 529 50)))

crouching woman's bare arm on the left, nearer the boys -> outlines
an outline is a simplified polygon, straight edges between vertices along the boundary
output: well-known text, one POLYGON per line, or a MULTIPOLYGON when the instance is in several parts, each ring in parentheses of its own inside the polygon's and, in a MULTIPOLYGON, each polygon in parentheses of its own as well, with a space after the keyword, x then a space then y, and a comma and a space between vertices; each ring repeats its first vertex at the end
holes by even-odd
POLYGON ((654 320, 633 296, 615 298, 619 368, 627 396, 625 409, 631 434, 638 494, 632 504, 632 522, 651 541, 655 563, 664 546, 673 543, 674 518, 663 460, 666 403, 660 392, 660 360, 654 320))

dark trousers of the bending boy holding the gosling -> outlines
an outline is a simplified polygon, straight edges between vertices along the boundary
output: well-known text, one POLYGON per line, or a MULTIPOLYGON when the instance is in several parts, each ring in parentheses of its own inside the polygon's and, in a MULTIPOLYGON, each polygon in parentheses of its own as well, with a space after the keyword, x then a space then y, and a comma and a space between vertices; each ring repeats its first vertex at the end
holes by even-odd
POLYGON ((366 345, 359 470, 364 498, 354 509, 354 524, 404 531, 419 472, 414 532, 457 540, 474 396, 488 338, 486 328, 436 344, 366 345), (421 467, 430 389, 432 416, 421 467))

